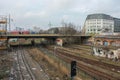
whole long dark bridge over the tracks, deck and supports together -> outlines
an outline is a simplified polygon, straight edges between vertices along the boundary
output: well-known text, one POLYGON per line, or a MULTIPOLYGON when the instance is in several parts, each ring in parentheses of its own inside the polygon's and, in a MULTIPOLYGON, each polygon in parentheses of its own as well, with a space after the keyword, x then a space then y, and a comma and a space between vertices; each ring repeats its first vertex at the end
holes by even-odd
POLYGON ((35 39, 35 38, 44 38, 48 42, 55 42, 58 38, 73 38, 76 39, 78 43, 84 43, 88 38, 91 36, 89 35, 60 35, 60 34, 6 34, 1 35, 1 38, 7 39, 7 45, 9 39, 17 38, 17 39, 35 39))

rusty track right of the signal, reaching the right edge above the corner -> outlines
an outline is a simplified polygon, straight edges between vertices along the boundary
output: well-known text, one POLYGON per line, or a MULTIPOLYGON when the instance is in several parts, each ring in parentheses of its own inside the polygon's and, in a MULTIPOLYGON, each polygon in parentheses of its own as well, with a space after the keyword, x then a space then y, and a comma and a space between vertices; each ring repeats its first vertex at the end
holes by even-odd
MULTIPOLYGON (((59 51, 65 51, 65 53, 71 53, 71 51, 69 50, 63 50, 63 49, 58 49, 59 51)), ((119 73, 120 74, 120 66, 116 66, 116 65, 112 65, 112 64, 108 64, 108 63, 105 63, 105 62, 101 62, 100 60, 92 60, 92 59, 88 59, 88 58, 84 58, 84 57, 81 57, 81 56, 76 56, 76 55, 73 55, 71 54, 73 58, 76 58, 78 59, 79 61, 83 61, 87 64, 91 64, 91 65, 95 65, 95 66, 99 66, 103 69, 108 69, 110 71, 113 71, 113 72, 116 72, 116 73, 119 73)))

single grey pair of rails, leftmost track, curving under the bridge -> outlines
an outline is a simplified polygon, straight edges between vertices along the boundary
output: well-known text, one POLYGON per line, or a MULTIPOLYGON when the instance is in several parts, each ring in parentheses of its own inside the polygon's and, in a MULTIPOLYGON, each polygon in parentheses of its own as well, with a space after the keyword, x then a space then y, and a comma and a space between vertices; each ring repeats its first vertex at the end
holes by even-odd
POLYGON ((25 55, 22 50, 17 51, 17 65, 19 80, 35 80, 32 70, 26 62, 25 55))

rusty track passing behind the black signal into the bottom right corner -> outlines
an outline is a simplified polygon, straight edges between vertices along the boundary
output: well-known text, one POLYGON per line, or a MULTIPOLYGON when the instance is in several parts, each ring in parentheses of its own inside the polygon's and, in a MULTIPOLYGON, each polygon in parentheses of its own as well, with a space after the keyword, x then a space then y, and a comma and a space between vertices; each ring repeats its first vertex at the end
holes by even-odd
MULTIPOLYGON (((58 54, 58 56, 62 60, 66 61, 68 63, 70 63, 73 60, 72 58, 69 58, 69 57, 66 57, 66 56, 63 56, 63 55, 60 55, 60 54, 58 54)), ((80 70, 86 72, 90 76, 95 77, 97 80, 119 80, 118 78, 111 77, 108 74, 105 74, 105 73, 103 73, 101 71, 98 71, 96 69, 88 67, 88 66, 80 63, 79 61, 77 61, 77 68, 79 68, 80 70)))

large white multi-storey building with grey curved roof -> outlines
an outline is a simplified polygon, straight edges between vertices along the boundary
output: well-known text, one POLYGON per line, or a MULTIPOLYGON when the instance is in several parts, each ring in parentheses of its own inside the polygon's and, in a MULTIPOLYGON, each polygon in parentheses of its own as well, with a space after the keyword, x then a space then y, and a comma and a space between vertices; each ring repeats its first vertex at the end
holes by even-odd
POLYGON ((120 32, 120 19, 107 14, 90 14, 86 18, 84 29, 86 34, 120 32))

